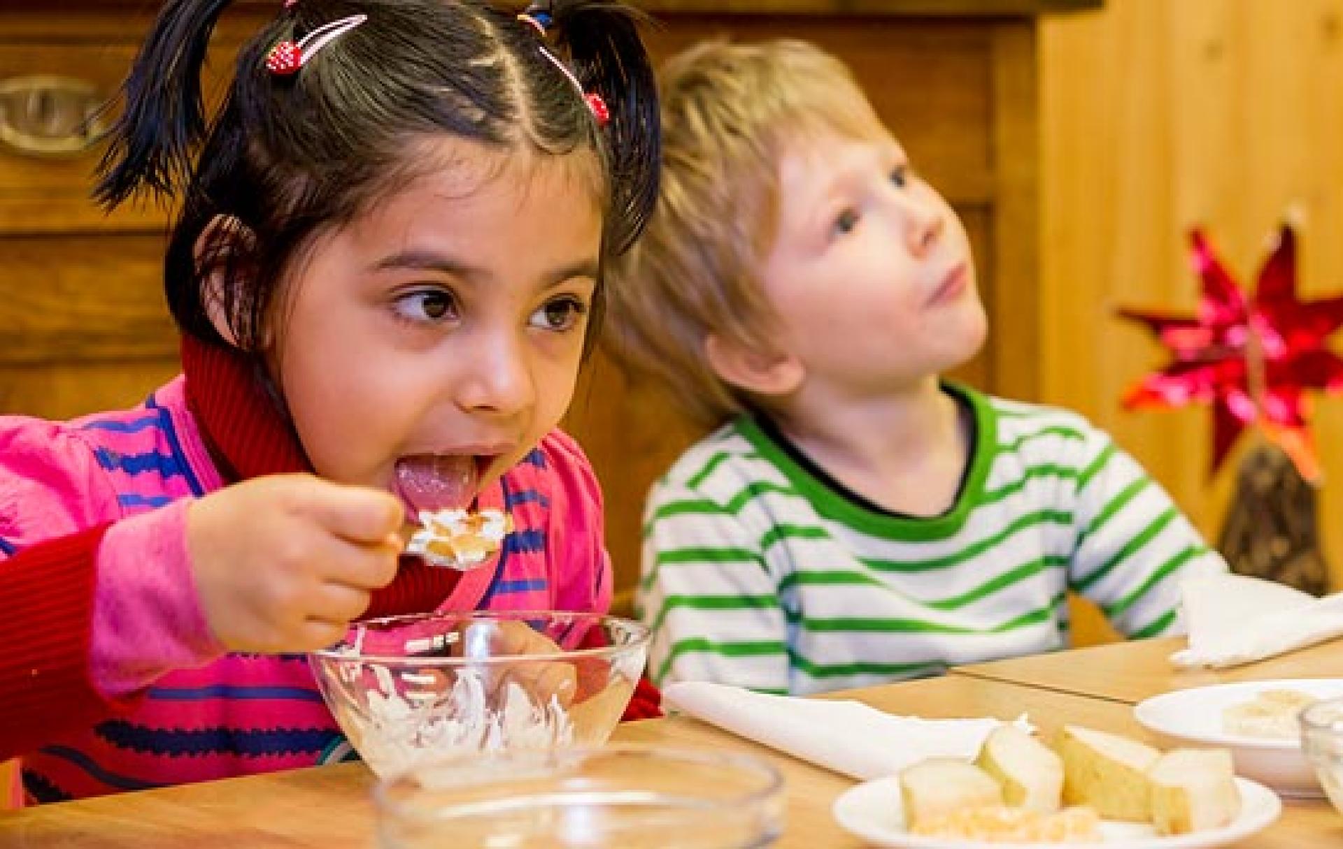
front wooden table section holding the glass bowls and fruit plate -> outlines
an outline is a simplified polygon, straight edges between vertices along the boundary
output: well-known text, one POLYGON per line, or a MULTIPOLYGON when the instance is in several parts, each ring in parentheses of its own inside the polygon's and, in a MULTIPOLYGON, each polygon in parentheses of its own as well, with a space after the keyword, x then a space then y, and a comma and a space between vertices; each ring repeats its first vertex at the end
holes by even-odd
MULTIPOLYGON (((1152 646, 1131 644, 1107 653, 1117 668, 1152 665, 1152 646), (1124 661, 1124 650, 1132 653, 1124 661), (1139 660, 1142 663, 1139 664, 1139 660)), ((1081 653, 1052 656, 1061 668, 1088 668, 1081 653)), ((992 665, 992 664, 988 664, 992 665)), ((1273 668, 1273 667, 1265 667, 1273 668)), ((1155 679, 1164 667, 1148 669, 1155 679)), ((1249 675, 1253 668, 1244 671, 1249 675)), ((1136 676, 1136 672, 1135 672, 1136 676)), ((1276 676, 1276 672, 1269 676, 1276 676)), ((940 679, 853 691, 851 697, 894 714, 928 718, 997 716, 1011 719, 1027 712, 1048 735, 1062 723, 1144 736, 1127 703, 1060 692, 1049 687, 952 673, 940 679)), ((835 797, 853 782, 842 775, 792 759, 772 750, 684 716, 629 723, 614 736, 619 742, 736 750, 767 758, 787 779, 787 832, 779 849, 857 849, 830 815, 835 797)), ((51 849, 330 849, 373 845, 372 777, 363 765, 341 765, 167 790, 46 805, 0 817, 0 846, 51 849)), ((1296 849, 1343 845, 1343 817, 1323 801, 1285 802, 1283 818, 1240 846, 1296 849)))

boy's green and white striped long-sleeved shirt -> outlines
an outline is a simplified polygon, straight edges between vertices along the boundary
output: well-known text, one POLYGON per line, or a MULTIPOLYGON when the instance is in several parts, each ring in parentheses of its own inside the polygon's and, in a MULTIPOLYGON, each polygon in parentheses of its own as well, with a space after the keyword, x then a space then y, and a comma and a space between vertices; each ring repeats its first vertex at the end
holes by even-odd
POLYGON ((975 447, 952 508, 857 503, 751 418, 649 495, 638 610, 654 681, 811 693, 1068 644, 1066 591, 1129 637, 1179 630, 1179 582, 1222 558, 1085 418, 948 386, 975 447))

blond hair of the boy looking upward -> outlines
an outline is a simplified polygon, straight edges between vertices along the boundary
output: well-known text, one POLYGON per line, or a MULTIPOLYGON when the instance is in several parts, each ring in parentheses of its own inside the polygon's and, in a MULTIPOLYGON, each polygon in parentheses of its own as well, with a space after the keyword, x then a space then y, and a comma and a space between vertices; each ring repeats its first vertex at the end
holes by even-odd
POLYGON ((659 86, 661 193, 641 240, 610 268, 607 338, 714 427, 753 404, 719 378, 705 341, 772 347, 759 267, 778 227, 784 146, 885 130, 843 63, 806 42, 702 43, 670 59, 659 86))

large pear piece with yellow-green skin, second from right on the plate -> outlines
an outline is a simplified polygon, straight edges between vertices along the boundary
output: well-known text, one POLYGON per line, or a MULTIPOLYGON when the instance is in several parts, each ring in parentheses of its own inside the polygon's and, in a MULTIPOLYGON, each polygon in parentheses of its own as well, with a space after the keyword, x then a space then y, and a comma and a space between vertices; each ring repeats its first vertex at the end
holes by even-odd
POLYGON ((1159 751, 1117 734, 1064 726, 1058 754, 1064 759, 1066 805, 1091 805, 1107 819, 1151 821, 1147 770, 1159 751))

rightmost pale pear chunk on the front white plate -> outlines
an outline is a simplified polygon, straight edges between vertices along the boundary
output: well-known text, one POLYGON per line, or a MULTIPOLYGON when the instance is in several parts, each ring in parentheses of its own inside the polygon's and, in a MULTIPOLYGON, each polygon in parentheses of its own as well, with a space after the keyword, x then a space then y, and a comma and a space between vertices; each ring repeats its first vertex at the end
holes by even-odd
POLYGON ((1232 752, 1175 748, 1147 771, 1152 783, 1152 825, 1158 834, 1217 829, 1241 813, 1232 752))

